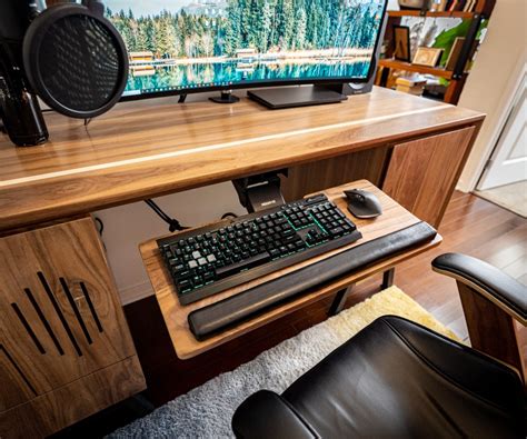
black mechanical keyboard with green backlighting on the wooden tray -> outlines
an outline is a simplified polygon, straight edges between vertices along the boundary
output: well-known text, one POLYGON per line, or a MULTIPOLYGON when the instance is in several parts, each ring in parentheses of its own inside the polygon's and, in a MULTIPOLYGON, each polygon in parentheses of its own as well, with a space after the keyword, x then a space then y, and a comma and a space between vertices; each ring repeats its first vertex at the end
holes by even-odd
POLYGON ((179 301, 191 303, 361 238, 325 194, 157 241, 179 301))

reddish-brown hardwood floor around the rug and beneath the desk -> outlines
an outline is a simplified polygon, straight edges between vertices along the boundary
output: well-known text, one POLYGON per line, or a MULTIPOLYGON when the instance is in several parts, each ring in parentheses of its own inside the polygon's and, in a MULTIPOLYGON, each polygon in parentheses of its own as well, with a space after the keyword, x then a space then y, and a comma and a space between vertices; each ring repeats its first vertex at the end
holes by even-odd
MULTIPOLYGON (((456 283, 432 272, 430 261, 445 252, 464 252, 527 283, 527 220, 473 194, 455 192, 439 232, 444 237, 443 245, 399 266, 395 283, 461 339, 467 339, 456 283)), ((347 307, 375 293, 379 283, 380 278, 375 278, 359 285, 347 307)), ((322 321, 329 303, 330 299, 315 303, 278 320, 271 328, 256 330, 185 361, 179 360, 171 348, 155 298, 128 305, 125 311, 148 383, 145 396, 155 406, 160 406, 322 321)), ((525 331, 523 339, 527 339, 524 336, 525 331)))

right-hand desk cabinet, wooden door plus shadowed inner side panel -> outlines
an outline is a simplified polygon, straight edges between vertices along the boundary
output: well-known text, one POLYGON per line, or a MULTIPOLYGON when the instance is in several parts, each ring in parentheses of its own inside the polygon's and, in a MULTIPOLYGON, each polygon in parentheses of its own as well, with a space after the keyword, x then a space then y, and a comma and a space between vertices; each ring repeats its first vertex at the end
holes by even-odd
POLYGON ((470 152, 474 131, 468 127, 289 168, 289 177, 282 179, 285 197, 292 201, 366 179, 437 228, 470 152))

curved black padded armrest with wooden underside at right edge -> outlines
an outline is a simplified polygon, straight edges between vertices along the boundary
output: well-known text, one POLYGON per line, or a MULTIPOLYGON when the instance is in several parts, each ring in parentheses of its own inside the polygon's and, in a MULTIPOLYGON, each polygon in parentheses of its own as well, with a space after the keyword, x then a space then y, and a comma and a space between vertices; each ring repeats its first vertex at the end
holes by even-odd
POLYGON ((455 278, 526 326, 527 287, 479 259, 445 253, 431 261, 434 271, 455 278))

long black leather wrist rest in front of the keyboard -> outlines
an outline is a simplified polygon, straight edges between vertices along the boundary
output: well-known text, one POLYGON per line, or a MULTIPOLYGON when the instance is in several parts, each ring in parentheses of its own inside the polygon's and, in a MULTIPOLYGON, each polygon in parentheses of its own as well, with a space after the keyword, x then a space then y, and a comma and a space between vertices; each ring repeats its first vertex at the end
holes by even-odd
POLYGON ((190 330, 198 340, 206 339, 262 313, 309 288, 364 268, 416 245, 427 242, 435 236, 436 230, 421 221, 356 246, 311 266, 190 312, 188 316, 190 330))

